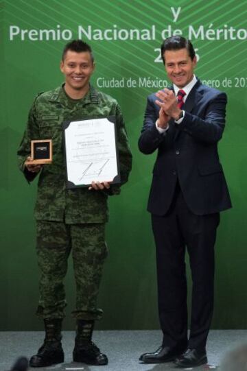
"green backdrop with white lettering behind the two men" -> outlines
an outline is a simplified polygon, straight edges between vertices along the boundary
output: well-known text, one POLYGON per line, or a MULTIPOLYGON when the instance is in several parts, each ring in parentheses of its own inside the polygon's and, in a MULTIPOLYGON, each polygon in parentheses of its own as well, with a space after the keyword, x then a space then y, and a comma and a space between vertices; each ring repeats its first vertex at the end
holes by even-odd
MULTIPOLYGON (((97 328, 158 328, 154 241, 146 204, 154 156, 137 141, 146 97, 167 85, 158 48, 172 33, 191 38, 196 74, 228 94, 220 156, 234 208, 218 230, 213 328, 246 328, 247 1, 5 0, 1 27, 0 330, 42 328, 33 207, 36 182, 25 182, 16 149, 34 96, 61 84, 62 47, 82 37, 95 53, 93 84, 121 105, 134 155, 130 182, 110 198, 110 254, 97 328)), ((189 274, 189 272, 188 272, 189 274)), ((73 328, 73 270, 67 280, 65 328, 73 328)), ((191 285, 189 285, 189 288, 191 285)))

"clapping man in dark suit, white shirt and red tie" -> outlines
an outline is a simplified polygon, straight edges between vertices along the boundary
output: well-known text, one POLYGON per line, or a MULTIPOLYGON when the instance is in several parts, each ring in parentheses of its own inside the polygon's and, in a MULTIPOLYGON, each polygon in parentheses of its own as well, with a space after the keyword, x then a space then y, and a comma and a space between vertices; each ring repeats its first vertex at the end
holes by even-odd
POLYGON ((207 363, 216 230, 220 211, 231 208, 217 152, 226 94, 202 85, 193 74, 196 55, 189 40, 167 38, 161 56, 173 87, 148 97, 139 149, 143 154, 158 150, 148 211, 156 243, 163 343, 140 360, 175 360, 176 366, 186 368, 207 363), (193 280, 189 339, 185 247, 193 280))

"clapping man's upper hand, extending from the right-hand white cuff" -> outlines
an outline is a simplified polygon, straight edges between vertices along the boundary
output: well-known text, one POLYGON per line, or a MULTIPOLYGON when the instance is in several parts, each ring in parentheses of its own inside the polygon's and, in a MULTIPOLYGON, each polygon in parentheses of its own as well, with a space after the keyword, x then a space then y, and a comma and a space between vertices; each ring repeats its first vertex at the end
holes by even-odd
POLYGON ((165 88, 163 91, 158 91, 156 97, 161 101, 156 100, 155 103, 163 108, 168 116, 172 117, 174 120, 178 120, 181 110, 178 108, 178 101, 174 92, 165 88))

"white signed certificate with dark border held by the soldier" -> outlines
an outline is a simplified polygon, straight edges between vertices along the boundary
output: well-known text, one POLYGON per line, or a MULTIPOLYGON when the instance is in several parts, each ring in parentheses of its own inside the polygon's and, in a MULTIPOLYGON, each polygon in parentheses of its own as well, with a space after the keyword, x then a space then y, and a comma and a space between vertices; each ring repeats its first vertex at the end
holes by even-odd
POLYGON ((115 116, 64 121, 67 188, 119 183, 115 116))

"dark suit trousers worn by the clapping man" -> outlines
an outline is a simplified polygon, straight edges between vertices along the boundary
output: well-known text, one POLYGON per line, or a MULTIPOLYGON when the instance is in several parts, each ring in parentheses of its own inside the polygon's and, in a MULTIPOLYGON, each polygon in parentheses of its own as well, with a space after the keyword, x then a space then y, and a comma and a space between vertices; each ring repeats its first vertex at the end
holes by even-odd
POLYGON ((220 214, 191 213, 180 187, 165 216, 152 215, 156 243, 158 311, 164 346, 204 350, 213 315, 214 244, 220 214), (187 340, 185 247, 193 281, 187 340))

